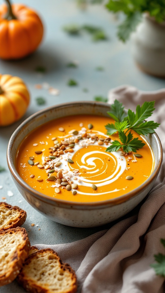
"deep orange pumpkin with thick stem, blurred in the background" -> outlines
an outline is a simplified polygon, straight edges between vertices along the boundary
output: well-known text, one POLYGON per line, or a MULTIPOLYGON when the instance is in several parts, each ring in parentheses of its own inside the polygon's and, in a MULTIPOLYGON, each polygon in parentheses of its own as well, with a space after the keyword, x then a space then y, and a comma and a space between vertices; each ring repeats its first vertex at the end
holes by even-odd
POLYGON ((43 37, 43 25, 32 9, 13 4, 0 6, 0 58, 20 59, 36 50, 43 37))

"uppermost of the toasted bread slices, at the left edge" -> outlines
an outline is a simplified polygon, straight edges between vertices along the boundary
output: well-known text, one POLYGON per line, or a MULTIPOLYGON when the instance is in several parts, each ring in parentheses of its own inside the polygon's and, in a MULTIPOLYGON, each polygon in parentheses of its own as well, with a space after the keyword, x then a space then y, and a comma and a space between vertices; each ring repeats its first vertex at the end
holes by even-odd
POLYGON ((26 220, 26 212, 19 207, 12 207, 0 202, 0 230, 8 230, 21 226, 26 220))

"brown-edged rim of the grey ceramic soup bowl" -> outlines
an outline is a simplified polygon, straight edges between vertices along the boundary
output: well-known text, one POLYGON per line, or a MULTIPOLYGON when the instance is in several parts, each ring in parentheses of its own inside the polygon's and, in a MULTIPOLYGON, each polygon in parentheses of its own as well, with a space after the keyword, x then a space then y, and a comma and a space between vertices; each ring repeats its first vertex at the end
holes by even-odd
MULTIPOLYGON (((104 102, 97 102, 97 101, 75 101, 72 103, 61 103, 58 105, 53 105, 47 108, 44 108, 42 110, 39 110, 35 113, 33 113, 32 115, 30 115, 28 118, 26 118, 17 128, 16 130, 13 132, 13 134, 11 135, 11 138, 9 139, 9 144, 8 144, 8 148, 7 148, 7 163, 8 163, 8 167, 9 167, 9 171, 11 172, 11 175, 14 177, 14 179, 17 181, 17 183, 19 185, 21 185, 21 187, 26 190, 26 192, 30 193, 31 195, 33 195, 34 197, 40 199, 40 200, 46 200, 47 202, 52 202, 52 203, 57 203, 58 205, 69 205, 69 206, 74 206, 74 208, 80 208, 80 207, 97 207, 97 206, 103 206, 105 205, 107 207, 107 205, 117 205, 120 204, 122 202, 125 202, 127 200, 129 200, 132 197, 135 197, 136 195, 138 195, 142 190, 145 190, 148 185, 154 181, 154 179, 156 179, 156 177, 158 176, 160 167, 161 167, 161 163, 162 163, 162 157, 163 157, 163 151, 162 151, 162 145, 161 145, 161 141, 158 137, 158 135, 156 134, 156 132, 154 132, 153 135, 157 141, 158 144, 158 151, 159 151, 159 156, 158 156, 158 161, 156 163, 156 166, 154 167, 154 171, 151 173, 151 175, 149 176, 149 178, 147 178, 147 180, 144 181, 144 183, 142 183, 139 187, 133 189, 132 191, 130 191, 129 193, 125 193, 124 195, 121 195, 119 197, 116 198, 112 198, 112 199, 108 199, 108 200, 104 200, 104 201, 97 201, 97 202, 73 202, 73 201, 68 201, 68 200, 61 200, 61 199, 57 199, 55 197, 49 197, 48 195, 44 195, 43 193, 40 193, 39 191, 33 189, 32 187, 30 187, 22 178, 21 176, 18 174, 16 167, 14 165, 14 162, 12 160, 12 156, 11 156, 11 152, 12 152, 12 148, 14 146, 14 142, 16 141, 16 137, 17 134, 19 132, 21 132, 21 130, 26 127, 26 124, 28 124, 31 120, 34 120, 37 116, 40 116, 42 114, 45 114, 51 110, 57 109, 57 108, 61 108, 61 107, 70 107, 72 105, 82 105, 82 104, 90 104, 90 105, 97 105, 100 104, 102 106, 110 106, 111 104, 109 103, 104 103, 104 102)), ((127 110, 124 107, 124 110, 127 110)), ((92 115, 92 114, 91 114, 92 115)), ((53 119, 54 120, 54 119, 53 119)), ((50 120, 52 121, 52 120, 50 120)), ((49 122, 49 121, 48 121, 49 122)), ((45 124, 45 123, 43 123, 45 124)), ((41 124, 42 125, 42 124, 41 124)), ((41 125, 39 127, 41 127, 41 125)), ((35 129, 35 128, 34 128, 35 129)), ((33 130, 34 130, 33 129, 33 130)), ((32 130, 32 131, 33 131, 32 130)))

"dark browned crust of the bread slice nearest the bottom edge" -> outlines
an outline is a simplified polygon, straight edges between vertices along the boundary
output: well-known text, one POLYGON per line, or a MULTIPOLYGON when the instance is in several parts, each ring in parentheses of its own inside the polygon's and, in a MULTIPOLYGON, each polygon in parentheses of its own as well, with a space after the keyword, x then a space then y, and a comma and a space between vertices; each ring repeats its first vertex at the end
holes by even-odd
MULTIPOLYGON (((36 251, 35 253, 31 254, 28 256, 26 262, 23 265, 23 268, 21 270, 21 272, 19 273, 18 277, 17 277, 17 281, 18 283, 27 291, 27 292, 31 292, 31 293, 54 293, 54 291, 50 290, 49 288, 43 288, 42 286, 37 284, 37 281, 34 282, 34 280, 28 278, 28 276, 26 276, 26 274, 24 274, 24 267, 28 266, 31 263, 31 260, 33 258, 37 258, 37 256, 39 254, 45 254, 45 253, 51 253, 52 255, 55 255, 57 260, 60 263, 60 268, 62 270, 68 270, 71 274, 71 280, 72 280, 72 286, 70 289, 68 289, 67 291, 65 291, 65 293, 76 293, 77 292, 77 278, 76 278, 76 274, 74 272, 74 270, 70 267, 70 265, 68 265, 67 263, 62 263, 62 261, 60 260, 60 257, 58 256, 58 254, 53 251, 50 248, 46 248, 46 249, 41 249, 36 251)), ((59 293, 61 291, 58 291, 57 293, 59 293)))

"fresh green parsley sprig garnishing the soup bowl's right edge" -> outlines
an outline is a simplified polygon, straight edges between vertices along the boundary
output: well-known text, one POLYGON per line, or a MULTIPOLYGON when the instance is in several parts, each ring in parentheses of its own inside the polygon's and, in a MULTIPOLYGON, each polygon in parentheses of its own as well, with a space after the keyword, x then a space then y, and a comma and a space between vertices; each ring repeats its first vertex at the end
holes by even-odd
POLYGON ((154 103, 154 101, 144 102, 141 107, 137 105, 136 113, 129 109, 128 114, 126 114, 123 104, 115 100, 114 104, 111 105, 110 111, 107 112, 115 120, 115 123, 108 123, 105 128, 107 129, 108 135, 118 132, 120 141, 113 141, 112 145, 106 151, 118 151, 122 147, 123 151, 128 153, 129 151, 136 152, 138 149, 144 147, 145 144, 142 140, 138 139, 138 137, 133 138, 131 130, 134 130, 140 135, 147 135, 153 133, 154 129, 160 125, 154 121, 144 122, 144 119, 150 117, 155 110, 154 103))

